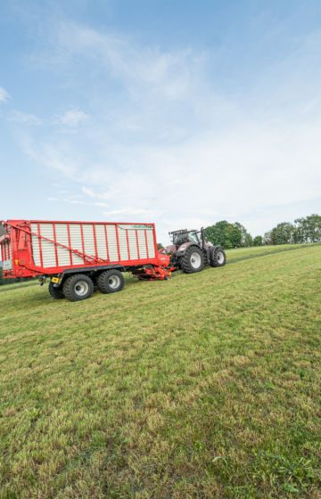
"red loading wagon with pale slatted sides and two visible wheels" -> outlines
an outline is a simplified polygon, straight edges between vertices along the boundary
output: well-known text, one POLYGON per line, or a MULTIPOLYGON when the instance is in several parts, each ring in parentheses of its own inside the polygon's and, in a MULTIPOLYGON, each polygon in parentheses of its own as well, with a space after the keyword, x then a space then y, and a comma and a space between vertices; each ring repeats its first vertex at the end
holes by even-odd
POLYGON ((168 279, 169 257, 157 251, 154 224, 3 221, 0 237, 4 278, 49 278, 54 299, 89 298, 95 287, 124 287, 124 272, 139 279, 168 279))

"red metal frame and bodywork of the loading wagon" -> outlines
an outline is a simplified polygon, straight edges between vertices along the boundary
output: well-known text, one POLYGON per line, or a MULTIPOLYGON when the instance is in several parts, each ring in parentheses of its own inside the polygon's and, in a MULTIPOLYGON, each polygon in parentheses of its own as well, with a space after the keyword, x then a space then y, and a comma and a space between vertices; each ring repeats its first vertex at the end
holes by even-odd
MULTIPOLYGON (((128 271, 134 271, 138 268, 140 269, 152 269, 151 275, 153 278, 157 279, 166 279, 169 277, 169 272, 165 270, 165 267, 169 265, 169 258, 166 255, 160 254, 157 252, 157 241, 156 241, 156 232, 154 224, 144 224, 148 225, 149 228, 152 227, 152 235, 153 235, 153 245, 154 245, 154 258, 149 258, 148 253, 148 245, 147 245, 147 236, 146 230, 144 230, 144 239, 146 245, 146 255, 147 258, 140 258, 139 256, 139 245, 138 245, 138 237, 136 231, 136 249, 138 258, 132 259, 130 258, 130 247, 128 242, 128 231, 126 233, 127 238, 127 248, 128 248, 128 259, 120 259, 120 251, 119 251, 119 234, 118 229, 116 229, 116 237, 117 237, 117 249, 118 249, 118 260, 111 261, 109 258, 109 246, 108 246, 108 237, 106 226, 109 225, 107 222, 53 222, 53 221, 35 221, 35 220, 8 220, 3 221, 7 233, 4 234, 0 238, 0 247, 1 247, 1 259, 3 261, 12 259, 12 269, 3 271, 4 277, 36 277, 42 275, 56 275, 62 274, 69 269, 80 269, 82 271, 86 270, 99 270, 99 267, 105 266, 121 266, 128 271), (45 237, 40 232, 40 224, 52 224, 53 225, 53 239, 45 237), (67 225, 68 229, 68 244, 62 244, 62 242, 56 241, 56 233, 55 233, 55 225, 58 224, 67 225), (37 233, 31 231, 31 224, 37 225, 37 233), (82 241, 82 251, 79 249, 74 249, 70 245, 70 226, 73 224, 80 225, 81 227, 81 241, 82 241), (93 233, 94 233, 94 243, 95 243, 95 254, 87 254, 85 251, 85 242, 84 242, 84 225, 93 225, 93 233), (96 225, 104 225, 104 240, 106 244, 106 254, 107 258, 99 258, 97 251, 97 237, 95 232, 96 225), (35 264, 35 260, 33 257, 32 250, 32 236, 37 236, 39 240, 39 258, 40 258, 40 266, 35 264), (6 244, 5 241, 10 241, 10 245, 6 244), (50 242, 54 245, 55 252, 55 266, 44 266, 43 262, 43 254, 42 254, 42 244, 50 242), (58 251, 60 248, 66 249, 70 252, 70 265, 61 266, 58 265, 58 251), (8 252, 10 250, 10 254, 8 252), (76 259, 81 258, 82 262, 80 265, 75 265, 73 263, 73 258, 76 259), (157 277, 154 277, 154 275, 157 277)), ((112 222, 111 225, 137 225, 132 223, 116 223, 112 222)), ((135 230, 135 228, 133 228, 135 230)), ((101 241, 100 241, 101 242, 101 241)), ((147 272, 149 274, 149 272, 147 272)))

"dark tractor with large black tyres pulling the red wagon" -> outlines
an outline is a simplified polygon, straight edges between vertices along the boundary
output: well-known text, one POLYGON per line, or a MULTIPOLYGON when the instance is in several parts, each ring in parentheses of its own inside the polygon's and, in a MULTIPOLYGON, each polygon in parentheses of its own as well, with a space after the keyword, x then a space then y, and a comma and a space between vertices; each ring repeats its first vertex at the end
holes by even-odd
POLYGON ((172 269, 181 269, 185 274, 201 272, 206 265, 224 266, 226 254, 220 246, 206 240, 204 229, 200 231, 182 229, 169 233, 172 244, 166 247, 172 269))

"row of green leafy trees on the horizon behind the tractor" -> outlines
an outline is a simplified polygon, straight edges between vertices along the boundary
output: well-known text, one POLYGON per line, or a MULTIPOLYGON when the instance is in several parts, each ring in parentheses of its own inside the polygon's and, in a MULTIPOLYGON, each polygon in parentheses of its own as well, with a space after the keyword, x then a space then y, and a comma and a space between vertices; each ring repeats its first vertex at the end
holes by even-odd
POLYGON ((290 222, 281 222, 264 235, 251 236, 239 222, 221 220, 205 228, 206 237, 213 244, 226 249, 263 246, 264 244, 301 244, 321 242, 321 216, 296 218, 290 222))

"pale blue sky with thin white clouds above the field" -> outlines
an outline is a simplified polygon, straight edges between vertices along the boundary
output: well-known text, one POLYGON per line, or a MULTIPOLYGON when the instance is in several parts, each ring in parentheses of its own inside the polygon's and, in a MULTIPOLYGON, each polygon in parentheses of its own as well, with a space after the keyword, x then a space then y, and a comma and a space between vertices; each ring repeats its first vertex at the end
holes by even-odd
POLYGON ((1 0, 0 218, 321 212, 321 2, 1 0))

